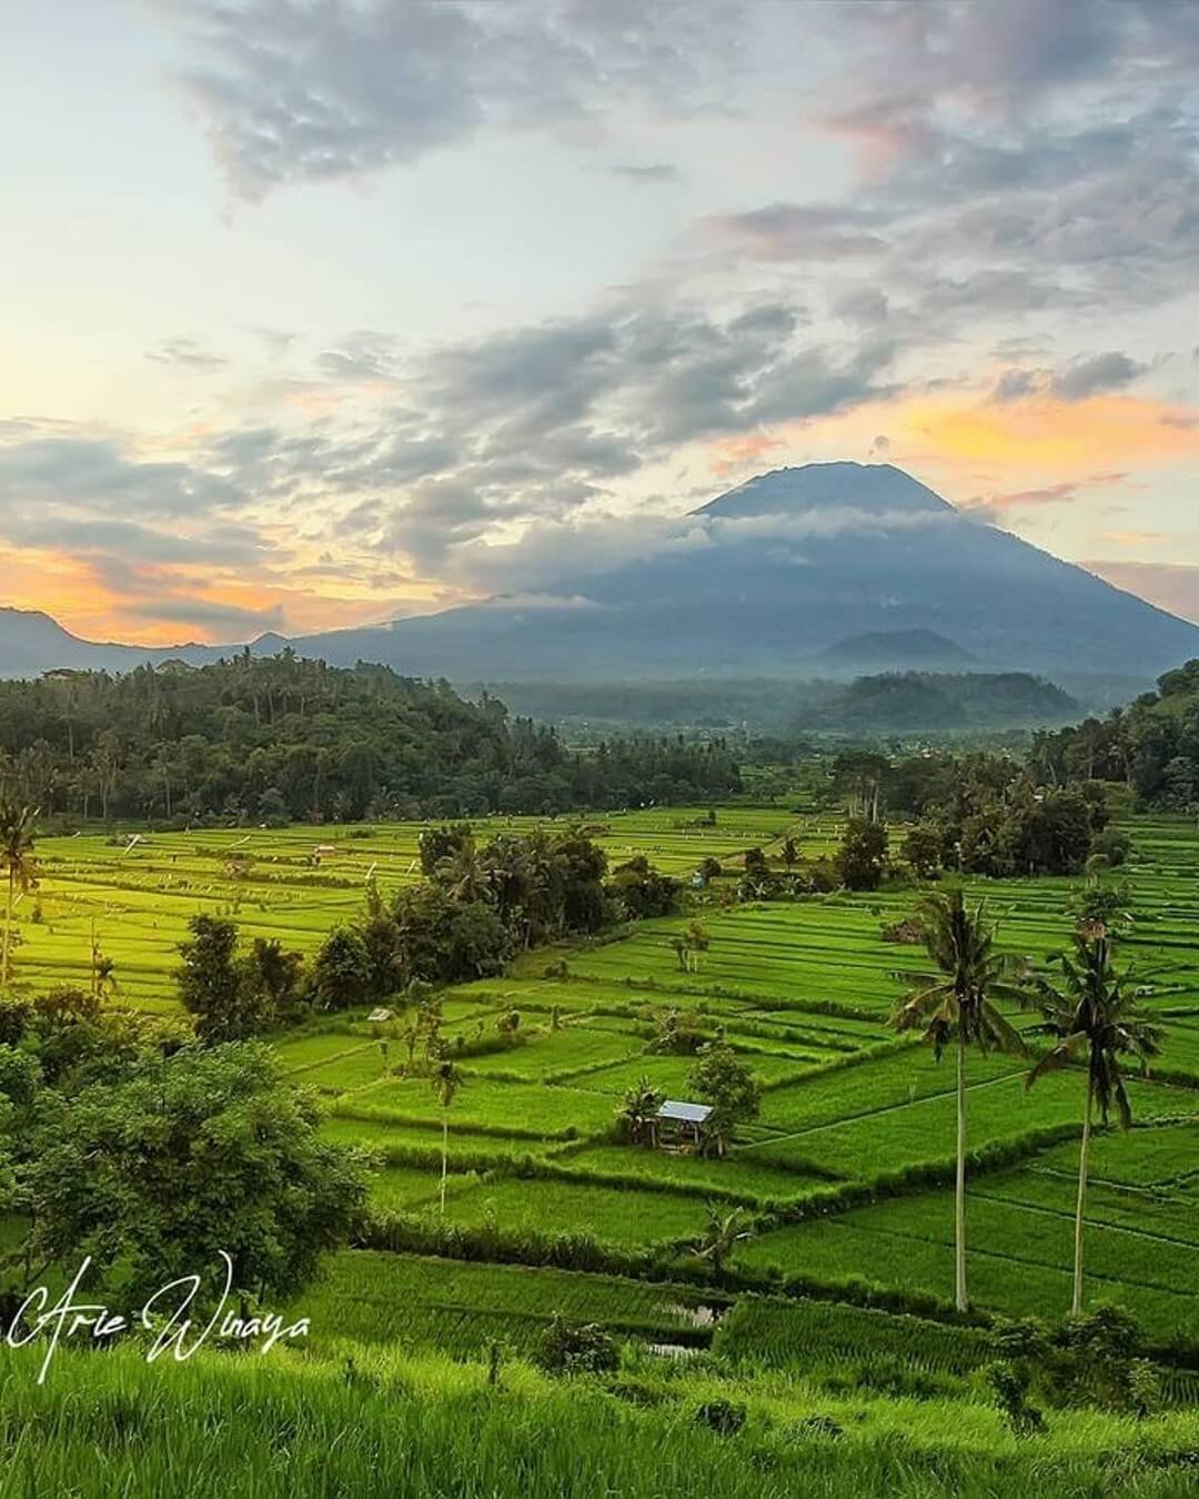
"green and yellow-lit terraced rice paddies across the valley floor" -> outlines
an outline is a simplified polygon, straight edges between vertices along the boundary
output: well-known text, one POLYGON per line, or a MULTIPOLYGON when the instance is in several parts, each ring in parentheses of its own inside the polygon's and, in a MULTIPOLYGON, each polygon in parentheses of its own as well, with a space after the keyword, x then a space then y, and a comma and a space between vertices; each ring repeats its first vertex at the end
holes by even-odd
MULTIPOLYGON (((695 826, 698 817, 631 812, 605 818, 602 838, 613 859, 646 851, 685 874, 709 853, 734 865, 746 847, 776 845, 788 829, 805 851, 823 851, 835 832, 829 818, 772 808, 721 809, 715 826, 695 826)), ((493 826, 501 824, 480 824, 480 832, 493 826)), ((1127 1136, 1100 1133, 1094 1144, 1088 1295, 1127 1304, 1160 1342, 1196 1342, 1199 832, 1181 818, 1129 826, 1136 928, 1124 955, 1153 977, 1148 1004, 1166 1046, 1163 1076, 1132 1087, 1138 1127, 1127 1136)), ((81 980, 94 919, 117 959, 121 997, 168 1007, 174 949, 189 914, 231 911, 247 935, 276 935, 312 952, 360 908, 367 871, 384 890, 417 877, 418 832, 415 824, 262 830, 244 842, 241 833, 150 835, 129 851, 97 838, 43 839, 40 920, 28 905, 21 910, 22 976, 34 986, 81 980), (325 842, 336 853, 315 865, 312 850, 325 842), (247 871, 229 865, 232 853, 250 860, 247 871)), ((1001 919, 1003 944, 1043 964, 1067 940, 1076 884, 973 887, 1001 919)), ((465 1048, 463 1085, 445 1121, 429 1081, 403 1075, 402 1043, 393 1037, 381 1048, 364 1012, 280 1036, 277 1049, 294 1081, 322 1100, 328 1138, 372 1153, 382 1208, 438 1219, 447 1123, 451 1226, 510 1237, 585 1234, 620 1253, 685 1255, 700 1241, 710 1199, 739 1204, 755 1222, 734 1268, 763 1285, 767 1276, 800 1276, 833 1292, 866 1283, 947 1300, 947 1189, 884 1195, 838 1213, 805 1207, 814 1198, 826 1202, 838 1187, 944 1168, 952 1159, 952 1069, 937 1066, 919 1043, 896 1040, 887 1025, 904 992, 896 970, 919 967, 922 955, 884 941, 883 928, 911 908, 916 893, 892 887, 710 908, 703 916, 710 946, 694 971, 683 971, 668 946, 689 916, 644 922, 619 941, 528 953, 508 976, 445 995, 444 1033, 451 1046, 462 1037, 465 1048), (519 1042, 471 1057, 480 1024, 492 1031, 513 1007, 522 1015, 519 1042), (613 1141, 620 1097, 640 1078, 688 1096, 691 1060, 646 1054, 655 1018, 668 1007, 709 1034, 719 1030, 761 1084, 760 1118, 742 1129, 725 1160, 613 1141)), ((1069 1304, 1082 1088, 1078 1075, 1066 1073, 1028 1093, 1024 1070, 1019 1058, 1004 1055, 970 1063, 971 1148, 1007 1151, 1007 1165, 971 1174, 971 1291, 983 1307, 1052 1316, 1069 1304)), ((525 1346, 558 1309, 649 1342, 697 1336, 691 1313, 676 1315, 673 1292, 549 1268, 354 1252, 336 1259, 319 1297, 328 1324, 346 1337, 406 1339, 454 1352, 478 1351, 495 1337, 525 1346)), ((737 1358, 766 1349, 775 1364, 809 1355, 812 1339, 845 1345, 845 1357, 854 1340, 872 1346, 866 1334, 883 1324, 838 1322, 838 1310, 850 1316, 844 1307, 800 1304, 784 1315, 779 1304, 745 1301, 718 1346, 737 1358)), ((889 1325, 878 1333, 884 1342, 898 1336, 889 1325)), ((928 1357, 952 1363, 961 1354, 953 1348, 928 1357)), ((967 1349, 962 1357, 973 1355, 967 1349)))

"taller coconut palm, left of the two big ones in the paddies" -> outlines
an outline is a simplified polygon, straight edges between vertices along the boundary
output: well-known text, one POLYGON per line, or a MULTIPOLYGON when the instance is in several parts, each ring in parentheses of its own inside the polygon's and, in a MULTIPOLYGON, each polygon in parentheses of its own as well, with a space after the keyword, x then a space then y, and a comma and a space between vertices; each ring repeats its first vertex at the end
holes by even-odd
POLYGON ((974 910, 959 889, 935 890, 917 910, 925 949, 935 964, 931 973, 904 973, 911 983, 892 1024, 896 1030, 923 1028, 937 1060, 949 1045, 958 1058, 958 1169, 953 1198, 953 1298, 959 1312, 970 1306, 965 1288, 965 1091, 967 1049, 1024 1052, 1021 1033, 1000 1013, 997 998, 1019 1003, 1022 991, 1009 977, 1015 961, 995 950, 995 925, 986 902, 974 910))

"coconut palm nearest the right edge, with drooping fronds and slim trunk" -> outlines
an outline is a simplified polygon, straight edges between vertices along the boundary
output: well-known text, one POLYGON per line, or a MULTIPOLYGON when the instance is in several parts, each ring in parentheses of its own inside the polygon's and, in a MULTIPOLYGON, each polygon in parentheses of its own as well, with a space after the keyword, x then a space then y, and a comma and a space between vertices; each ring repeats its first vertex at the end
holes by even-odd
POLYGON ((1115 1108, 1121 1129, 1132 1124, 1132 1108, 1120 1069, 1121 1057, 1136 1057, 1145 1069, 1160 1049, 1162 1033, 1136 1009, 1144 989, 1133 980, 1132 968, 1114 967, 1114 941, 1102 922, 1084 922, 1075 932, 1075 950, 1054 953, 1051 962, 1061 968, 1061 986, 1037 979, 1033 986, 1045 1015, 1042 1034, 1057 1037, 1028 1073, 1028 1087, 1045 1076, 1082 1063, 1087 1102, 1082 1112, 1082 1142, 1078 1154, 1078 1205, 1075 1210, 1075 1289, 1070 1310, 1082 1312, 1082 1228, 1087 1208, 1087 1172, 1091 1154, 1091 1118, 1099 1108, 1103 1123, 1115 1108))

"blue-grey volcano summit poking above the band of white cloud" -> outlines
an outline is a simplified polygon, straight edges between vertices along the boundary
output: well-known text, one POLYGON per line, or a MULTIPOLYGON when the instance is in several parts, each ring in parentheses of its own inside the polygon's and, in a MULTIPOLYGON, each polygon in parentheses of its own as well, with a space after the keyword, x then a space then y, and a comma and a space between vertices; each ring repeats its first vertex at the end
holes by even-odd
POLYGON ((953 511, 949 501, 893 463, 841 462, 805 463, 758 474, 700 505, 694 514, 772 516, 835 507, 871 514, 953 511))

